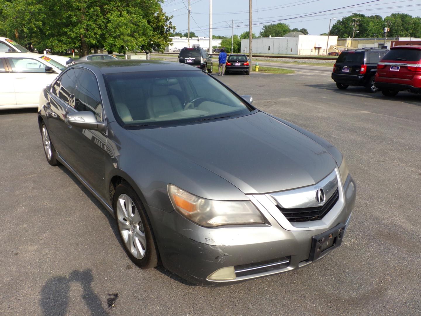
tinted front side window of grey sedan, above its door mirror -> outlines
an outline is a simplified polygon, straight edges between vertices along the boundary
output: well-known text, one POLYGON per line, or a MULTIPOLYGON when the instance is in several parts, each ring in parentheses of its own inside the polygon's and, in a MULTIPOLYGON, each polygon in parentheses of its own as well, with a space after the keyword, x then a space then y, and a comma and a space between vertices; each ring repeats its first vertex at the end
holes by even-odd
POLYGON ((91 111, 98 122, 102 121, 102 104, 98 82, 95 75, 82 69, 77 77, 75 88, 75 109, 77 111, 91 111))

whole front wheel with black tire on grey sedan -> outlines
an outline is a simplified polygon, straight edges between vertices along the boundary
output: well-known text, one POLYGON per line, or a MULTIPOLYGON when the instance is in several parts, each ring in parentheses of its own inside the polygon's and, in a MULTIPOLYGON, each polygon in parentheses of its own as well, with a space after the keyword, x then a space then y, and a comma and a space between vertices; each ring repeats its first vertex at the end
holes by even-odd
POLYGON ((127 182, 116 187, 113 209, 129 258, 142 269, 156 267, 159 254, 149 217, 139 196, 127 182))

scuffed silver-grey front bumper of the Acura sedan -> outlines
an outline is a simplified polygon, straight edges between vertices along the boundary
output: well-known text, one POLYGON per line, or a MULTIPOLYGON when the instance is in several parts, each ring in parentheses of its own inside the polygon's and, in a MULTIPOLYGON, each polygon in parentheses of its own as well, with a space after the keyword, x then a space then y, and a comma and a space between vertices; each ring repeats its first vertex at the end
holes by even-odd
POLYGON ((219 228, 200 227, 176 211, 149 209, 165 268, 195 284, 214 286, 283 273, 312 263, 309 260, 312 236, 339 223, 348 227, 356 197, 351 176, 346 179, 341 194, 344 203, 334 220, 326 227, 307 230, 282 228, 262 205, 258 208, 267 219, 265 224, 219 228), (207 278, 216 270, 231 266, 235 269, 234 280, 207 278))

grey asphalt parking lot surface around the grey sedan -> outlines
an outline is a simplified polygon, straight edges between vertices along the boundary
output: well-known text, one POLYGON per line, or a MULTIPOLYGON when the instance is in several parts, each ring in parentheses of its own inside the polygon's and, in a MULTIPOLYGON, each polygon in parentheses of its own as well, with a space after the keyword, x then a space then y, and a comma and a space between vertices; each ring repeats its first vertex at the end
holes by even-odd
POLYGON ((421 96, 338 90, 329 72, 218 77, 345 155, 342 246, 282 275, 204 288, 126 256, 112 216, 45 161, 36 110, 0 112, 0 315, 420 315, 421 96))

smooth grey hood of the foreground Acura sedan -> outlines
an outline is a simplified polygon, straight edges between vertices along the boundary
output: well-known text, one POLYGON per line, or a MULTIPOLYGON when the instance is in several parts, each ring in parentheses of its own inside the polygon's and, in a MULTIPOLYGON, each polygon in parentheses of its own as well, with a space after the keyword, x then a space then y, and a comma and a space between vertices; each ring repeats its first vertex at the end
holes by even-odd
MULTIPOLYGON (((314 185, 336 167, 325 148, 263 112, 131 132, 137 141, 147 138, 178 153, 246 194, 314 185)), ((188 165, 180 168, 188 172, 188 165)))

